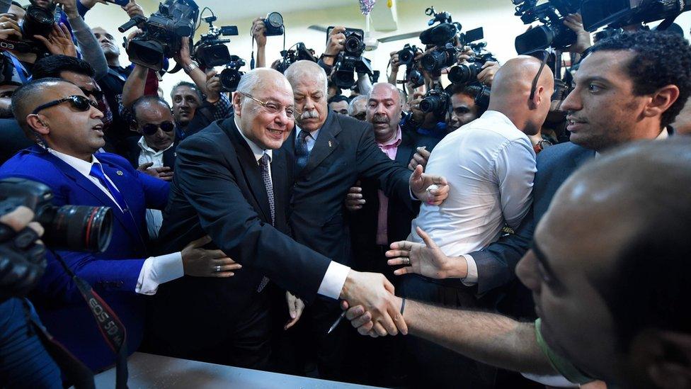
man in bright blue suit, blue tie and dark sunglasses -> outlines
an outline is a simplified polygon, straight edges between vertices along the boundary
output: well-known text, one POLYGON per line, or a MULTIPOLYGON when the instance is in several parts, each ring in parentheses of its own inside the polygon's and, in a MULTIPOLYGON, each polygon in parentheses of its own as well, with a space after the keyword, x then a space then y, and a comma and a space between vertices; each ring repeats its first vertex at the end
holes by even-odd
MULTIPOLYGON (((78 86, 62 79, 40 79, 17 89, 12 109, 25 134, 37 145, 18 152, 0 167, 0 178, 21 177, 50 186, 54 205, 108 206, 113 235, 102 253, 48 252, 48 266, 33 301, 55 338, 93 370, 113 364, 86 301, 56 259, 93 286, 127 330, 127 350, 142 339, 144 300, 159 284, 193 276, 229 276, 232 261, 219 250, 200 249, 199 239, 182 252, 147 258, 145 210, 162 210, 169 184, 136 171, 126 159, 98 153, 103 147, 103 113, 78 86)), ((50 247, 49 247, 50 249, 50 247)))

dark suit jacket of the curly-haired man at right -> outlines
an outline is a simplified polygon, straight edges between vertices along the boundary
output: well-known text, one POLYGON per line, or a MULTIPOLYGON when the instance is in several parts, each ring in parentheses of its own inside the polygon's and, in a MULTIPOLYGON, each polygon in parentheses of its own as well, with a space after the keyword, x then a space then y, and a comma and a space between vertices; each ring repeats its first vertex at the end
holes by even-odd
POLYGON ((470 253, 477 264, 478 293, 503 286, 515 278, 516 264, 530 247, 535 225, 547 212, 554 193, 573 171, 593 157, 593 150, 571 142, 547 147, 537 154, 532 208, 515 230, 515 234, 502 237, 486 249, 470 253))

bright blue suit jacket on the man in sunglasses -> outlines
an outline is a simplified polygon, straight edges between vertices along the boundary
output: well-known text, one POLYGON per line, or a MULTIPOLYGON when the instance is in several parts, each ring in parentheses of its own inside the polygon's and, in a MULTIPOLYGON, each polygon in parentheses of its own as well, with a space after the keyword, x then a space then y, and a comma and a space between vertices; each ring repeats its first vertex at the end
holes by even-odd
MULTIPOLYGON (((113 237, 103 253, 57 251, 67 266, 84 278, 118 314, 127 328, 127 350, 142 340, 143 296, 135 293, 139 272, 147 256, 145 210, 163 209, 169 184, 139 174, 126 159, 109 153, 96 157, 118 187, 129 212, 123 213, 91 181, 69 164, 38 146, 22 150, 0 167, 0 179, 21 177, 49 186, 54 205, 108 206, 113 210, 113 237)), ((99 370, 115 361, 72 278, 49 252, 48 266, 32 300, 48 331, 87 366, 99 370)))

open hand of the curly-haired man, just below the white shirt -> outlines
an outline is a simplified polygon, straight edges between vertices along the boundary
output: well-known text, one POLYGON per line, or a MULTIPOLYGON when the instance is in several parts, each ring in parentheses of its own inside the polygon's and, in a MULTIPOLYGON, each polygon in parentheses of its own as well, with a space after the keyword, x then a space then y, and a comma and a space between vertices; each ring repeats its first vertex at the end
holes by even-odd
POLYGON ((392 258, 387 264, 391 266, 407 265, 401 269, 396 269, 394 271, 396 276, 415 273, 437 279, 461 278, 460 274, 457 274, 459 272, 457 267, 465 267, 464 273, 467 275, 466 261, 446 256, 422 228, 417 227, 416 231, 425 244, 407 241, 394 242, 391 244, 391 250, 386 253, 388 258, 392 258))

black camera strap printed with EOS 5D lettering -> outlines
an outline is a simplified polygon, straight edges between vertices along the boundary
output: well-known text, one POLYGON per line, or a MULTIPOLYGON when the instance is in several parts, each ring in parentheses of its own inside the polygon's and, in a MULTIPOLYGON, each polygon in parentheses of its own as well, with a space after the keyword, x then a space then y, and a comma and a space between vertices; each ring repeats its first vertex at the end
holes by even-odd
POLYGON ((84 279, 80 278, 69 266, 64 262, 61 256, 53 252, 59 263, 62 265, 64 271, 72 277, 81 297, 86 301, 91 315, 96 320, 98 329, 101 330, 101 335, 105 339, 105 343, 110 346, 110 349, 115 353, 115 388, 127 389, 127 330, 125 325, 122 325, 118 315, 113 312, 113 309, 101 298, 96 291, 91 288, 91 285, 84 279))

